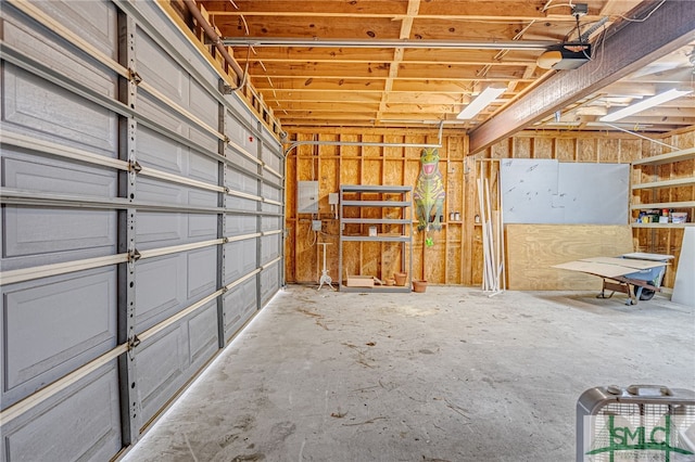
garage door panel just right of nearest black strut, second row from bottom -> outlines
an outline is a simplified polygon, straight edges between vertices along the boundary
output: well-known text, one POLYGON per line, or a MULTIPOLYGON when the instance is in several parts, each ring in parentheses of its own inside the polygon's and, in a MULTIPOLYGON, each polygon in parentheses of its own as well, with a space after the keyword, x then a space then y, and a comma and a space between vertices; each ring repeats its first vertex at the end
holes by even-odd
POLYGON ((178 312, 186 303, 185 255, 139 261, 136 266, 135 298, 137 332, 178 312))

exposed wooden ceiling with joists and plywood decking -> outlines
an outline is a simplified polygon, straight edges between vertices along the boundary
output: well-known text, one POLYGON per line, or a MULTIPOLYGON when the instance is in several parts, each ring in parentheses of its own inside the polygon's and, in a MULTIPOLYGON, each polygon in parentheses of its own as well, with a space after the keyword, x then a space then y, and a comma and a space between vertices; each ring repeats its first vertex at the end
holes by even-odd
MULTIPOLYGON (((589 14, 580 17, 579 30, 571 14, 577 1, 566 0, 198 3, 233 55, 244 60, 248 46, 253 46, 248 81, 288 129, 313 124, 316 114, 333 112, 327 120, 340 125, 346 123, 345 113, 362 116, 371 111, 369 117, 348 123, 397 126, 397 120, 404 120, 409 126, 446 120, 457 128, 475 130, 496 114, 506 113, 527 94, 547 88, 547 81, 558 72, 540 68, 538 59, 549 46, 574 40, 581 34, 594 42, 594 53, 599 55, 604 38, 629 24, 621 17, 644 17, 660 2, 584 1, 589 14), (456 120, 473 91, 489 85, 505 86, 506 91, 472 120, 456 120), (346 107, 348 104, 363 107, 346 107)), ((617 100, 608 94, 623 92, 623 88, 609 88, 608 93, 596 88, 591 99, 567 101, 563 116, 572 121, 581 119, 582 128, 592 129, 592 117, 598 117, 594 114, 642 98, 644 91, 635 88, 654 92, 668 82, 682 81, 684 63, 687 56, 680 55, 673 69, 643 73, 626 82, 624 87, 633 89, 631 99, 617 100)), ((561 73, 582 75, 576 70, 561 73)), ((695 110, 688 104, 683 106, 687 114, 665 117, 655 127, 668 130, 685 124, 695 110)), ((551 123, 554 117, 542 120, 541 124, 551 123)), ((535 124, 539 121, 531 126, 535 124)))

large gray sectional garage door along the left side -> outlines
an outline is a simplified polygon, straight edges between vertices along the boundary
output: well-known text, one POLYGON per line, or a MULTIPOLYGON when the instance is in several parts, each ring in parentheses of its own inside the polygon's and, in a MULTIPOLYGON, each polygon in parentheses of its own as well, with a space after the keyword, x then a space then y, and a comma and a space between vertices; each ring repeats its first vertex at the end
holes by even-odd
POLYGON ((157 2, 1 15, 0 460, 108 460, 280 288, 282 151, 157 2))

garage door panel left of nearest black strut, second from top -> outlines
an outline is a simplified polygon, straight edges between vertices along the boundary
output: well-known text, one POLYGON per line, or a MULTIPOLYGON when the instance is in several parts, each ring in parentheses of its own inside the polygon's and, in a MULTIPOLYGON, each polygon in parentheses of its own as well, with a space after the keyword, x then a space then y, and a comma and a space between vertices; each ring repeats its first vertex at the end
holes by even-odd
POLYGON ((115 156, 115 114, 7 62, 2 85, 4 123, 115 156))

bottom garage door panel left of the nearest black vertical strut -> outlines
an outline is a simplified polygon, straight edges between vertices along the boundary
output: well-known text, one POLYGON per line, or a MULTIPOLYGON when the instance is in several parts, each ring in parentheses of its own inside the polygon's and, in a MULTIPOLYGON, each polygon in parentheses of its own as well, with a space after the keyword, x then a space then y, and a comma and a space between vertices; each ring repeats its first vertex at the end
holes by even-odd
POLYGON ((111 361, 4 425, 2 460, 110 460, 122 447, 117 381, 111 361))

